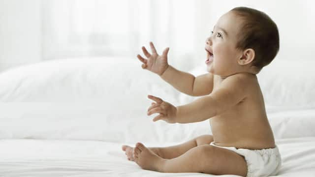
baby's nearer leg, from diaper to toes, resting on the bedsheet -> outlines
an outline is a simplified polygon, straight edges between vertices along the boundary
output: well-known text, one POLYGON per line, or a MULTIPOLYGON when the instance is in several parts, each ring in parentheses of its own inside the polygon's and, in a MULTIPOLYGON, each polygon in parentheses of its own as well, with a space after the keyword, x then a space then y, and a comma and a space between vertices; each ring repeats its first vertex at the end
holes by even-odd
POLYGON ((164 173, 206 173, 245 177, 247 164, 243 156, 228 149, 201 145, 173 159, 163 159, 137 143, 134 161, 145 170, 164 173))

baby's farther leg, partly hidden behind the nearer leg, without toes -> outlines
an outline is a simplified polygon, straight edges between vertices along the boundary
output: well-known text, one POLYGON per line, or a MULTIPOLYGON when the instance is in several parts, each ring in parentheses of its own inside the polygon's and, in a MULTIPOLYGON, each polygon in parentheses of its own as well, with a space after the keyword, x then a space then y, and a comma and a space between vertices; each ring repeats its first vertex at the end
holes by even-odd
POLYGON ((178 156, 181 156, 189 149, 200 146, 200 145, 209 145, 213 142, 212 135, 201 135, 196 137, 188 142, 185 142, 180 145, 170 146, 170 147, 160 147, 160 148, 149 148, 155 152, 158 156, 164 159, 172 159, 178 156))

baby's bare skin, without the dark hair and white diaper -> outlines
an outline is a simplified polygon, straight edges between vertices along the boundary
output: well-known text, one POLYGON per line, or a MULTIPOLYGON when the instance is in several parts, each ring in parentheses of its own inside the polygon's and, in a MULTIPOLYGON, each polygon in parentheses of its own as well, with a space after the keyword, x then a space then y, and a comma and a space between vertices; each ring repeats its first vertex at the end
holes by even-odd
POLYGON ((191 123, 209 119, 213 135, 203 135, 181 145, 147 148, 123 146, 129 160, 142 169, 159 172, 198 172, 214 175, 247 175, 243 156, 228 149, 209 145, 246 149, 275 148, 263 96, 257 81, 256 68, 251 66, 254 51, 235 48, 241 21, 228 12, 221 16, 214 35, 206 40, 207 70, 194 77, 168 65, 169 48, 159 56, 150 43, 152 54, 142 47, 147 59, 138 55, 142 68, 158 74, 175 89, 191 96, 203 96, 192 103, 173 106, 161 98, 155 101, 148 115, 158 113, 153 120, 169 123, 191 123), (225 30, 224 30, 225 29, 225 30))

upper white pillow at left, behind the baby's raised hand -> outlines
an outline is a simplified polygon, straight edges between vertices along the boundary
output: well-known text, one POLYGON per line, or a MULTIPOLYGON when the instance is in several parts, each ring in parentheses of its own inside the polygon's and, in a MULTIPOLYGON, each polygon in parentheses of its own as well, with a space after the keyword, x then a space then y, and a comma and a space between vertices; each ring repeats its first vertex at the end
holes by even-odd
POLYGON ((143 103, 147 94, 170 95, 167 97, 170 101, 177 100, 178 96, 156 74, 143 70, 137 59, 60 59, 0 73, 0 102, 124 99, 129 103, 143 103))

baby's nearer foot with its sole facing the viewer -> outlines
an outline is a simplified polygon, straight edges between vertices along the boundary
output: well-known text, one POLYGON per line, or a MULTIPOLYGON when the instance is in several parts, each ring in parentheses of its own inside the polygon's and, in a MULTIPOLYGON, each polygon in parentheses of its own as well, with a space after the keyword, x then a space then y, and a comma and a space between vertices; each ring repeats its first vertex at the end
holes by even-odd
POLYGON ((134 161, 145 170, 160 171, 163 160, 142 143, 133 148, 134 161))

